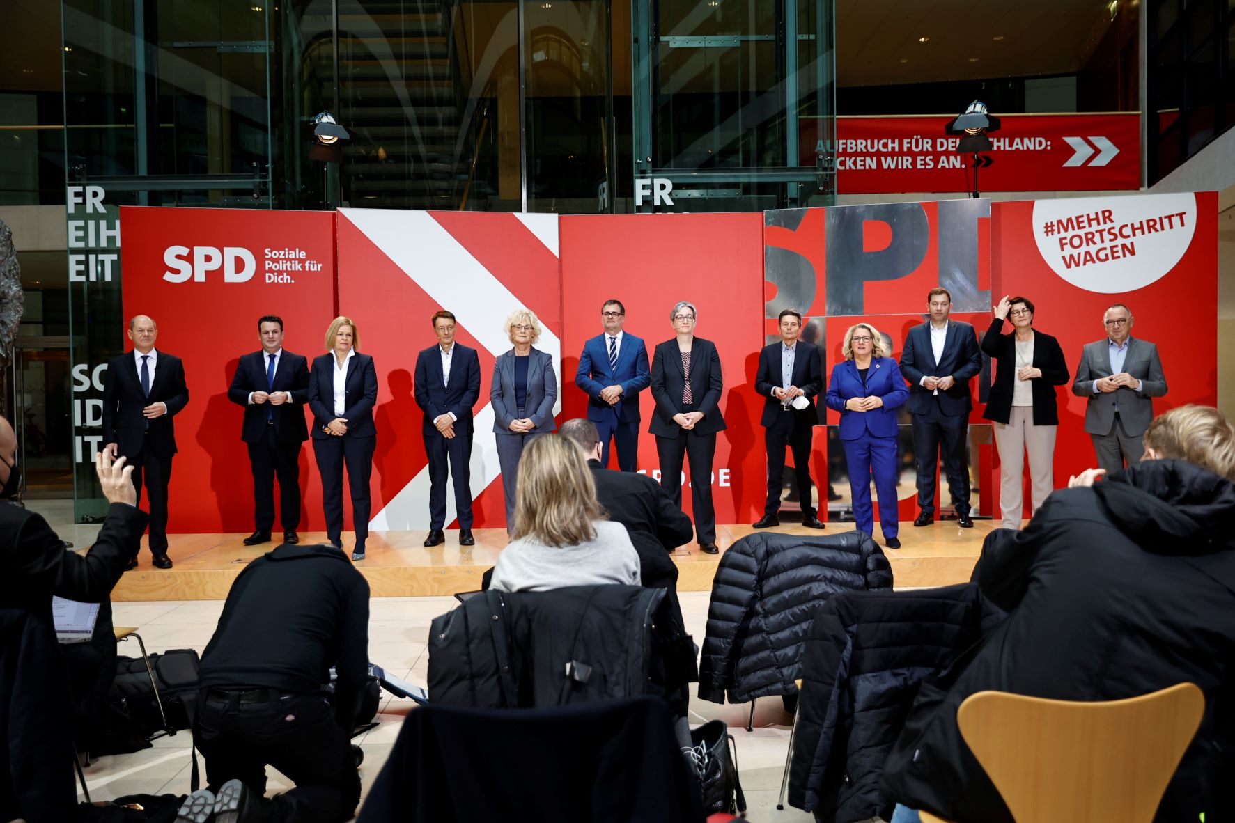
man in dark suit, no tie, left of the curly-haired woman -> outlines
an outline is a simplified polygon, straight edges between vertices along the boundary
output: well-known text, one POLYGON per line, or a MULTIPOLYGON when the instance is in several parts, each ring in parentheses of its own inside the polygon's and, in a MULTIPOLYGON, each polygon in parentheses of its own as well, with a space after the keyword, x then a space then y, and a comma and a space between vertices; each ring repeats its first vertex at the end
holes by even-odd
POLYGON ((416 357, 416 405, 425 412, 421 433, 429 455, 429 537, 425 545, 446 542, 446 474, 454 479, 459 545, 472 537, 472 407, 480 396, 480 358, 454 342, 454 315, 432 316, 437 345, 416 357))

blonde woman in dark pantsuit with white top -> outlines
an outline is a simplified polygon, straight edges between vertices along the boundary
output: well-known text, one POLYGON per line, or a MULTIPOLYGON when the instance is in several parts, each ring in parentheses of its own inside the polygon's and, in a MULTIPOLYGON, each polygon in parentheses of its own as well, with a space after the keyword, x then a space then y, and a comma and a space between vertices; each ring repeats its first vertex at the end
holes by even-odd
POLYGON ((351 317, 336 317, 326 331, 326 354, 315 358, 309 379, 312 410, 312 453, 321 474, 321 505, 326 536, 343 548, 343 465, 352 490, 356 528, 353 560, 364 559, 369 536, 369 476, 377 427, 373 405, 378 400, 378 375, 373 358, 361 354, 361 332, 351 317))

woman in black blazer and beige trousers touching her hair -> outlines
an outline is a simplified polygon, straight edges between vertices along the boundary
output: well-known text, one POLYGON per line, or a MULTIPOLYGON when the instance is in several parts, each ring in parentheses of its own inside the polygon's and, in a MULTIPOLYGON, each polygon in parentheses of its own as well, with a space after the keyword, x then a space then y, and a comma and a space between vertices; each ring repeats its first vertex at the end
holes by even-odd
POLYGON ((1068 381, 1068 364, 1060 342, 1034 331, 1034 302, 1007 295, 994 307, 982 350, 998 363, 987 410, 995 424, 1002 480, 999 507, 1003 528, 1020 528, 1025 506, 1025 452, 1029 452, 1032 511, 1055 490, 1055 433, 1060 426, 1055 386, 1068 381), (1011 334, 1002 334, 1004 320, 1011 334))

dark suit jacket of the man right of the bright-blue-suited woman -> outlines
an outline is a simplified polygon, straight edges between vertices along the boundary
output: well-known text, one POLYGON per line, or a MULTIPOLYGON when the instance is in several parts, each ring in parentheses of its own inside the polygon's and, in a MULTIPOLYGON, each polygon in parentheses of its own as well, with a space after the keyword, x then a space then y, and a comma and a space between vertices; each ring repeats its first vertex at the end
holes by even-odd
POLYGON ((934 397, 932 391, 923 387, 926 375, 946 378, 952 375, 952 387, 939 392, 939 408, 945 415, 966 415, 973 410, 969 397, 969 379, 982 371, 982 352, 978 349, 978 336, 973 326, 960 320, 947 321, 947 337, 944 338, 944 357, 935 363, 935 350, 930 345, 930 321, 914 326, 905 337, 905 348, 900 353, 900 374, 909 381, 909 411, 925 415, 927 403, 934 397))

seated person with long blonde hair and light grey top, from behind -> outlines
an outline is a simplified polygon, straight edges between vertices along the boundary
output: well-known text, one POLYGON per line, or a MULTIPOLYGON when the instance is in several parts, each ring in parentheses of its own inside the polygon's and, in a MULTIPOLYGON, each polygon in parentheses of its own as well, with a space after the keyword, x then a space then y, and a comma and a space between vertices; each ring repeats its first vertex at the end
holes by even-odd
POLYGON ((498 555, 489 587, 640 585, 638 553, 626 527, 604 518, 579 447, 561 436, 529 443, 519 463, 513 539, 498 555))

